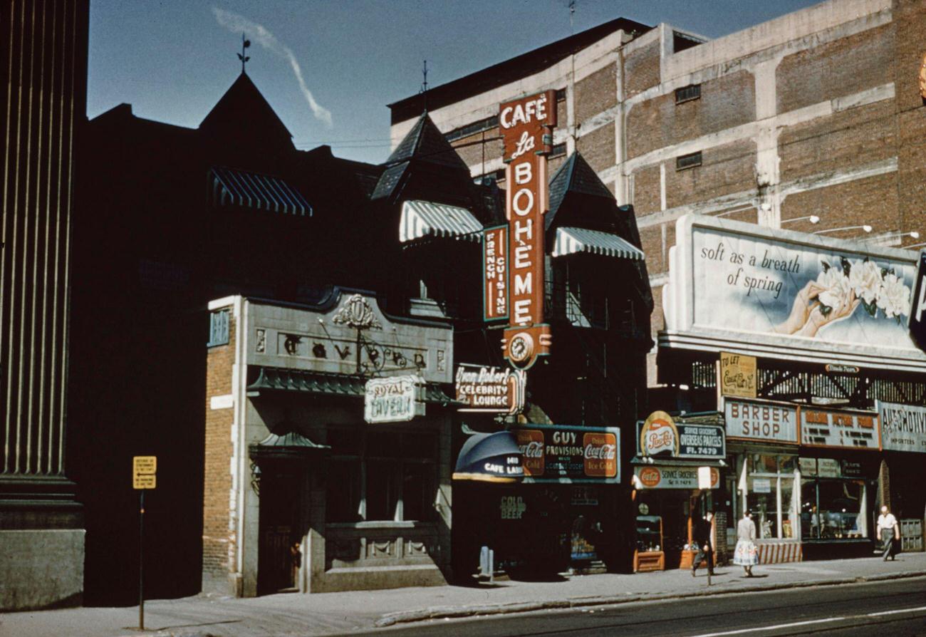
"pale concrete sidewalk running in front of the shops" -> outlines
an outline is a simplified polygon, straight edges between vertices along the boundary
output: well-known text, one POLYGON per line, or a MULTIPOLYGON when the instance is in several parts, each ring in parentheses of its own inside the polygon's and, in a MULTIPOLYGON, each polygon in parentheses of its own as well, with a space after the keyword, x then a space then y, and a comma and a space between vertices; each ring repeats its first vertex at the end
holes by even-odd
MULTIPOLYGON (((144 604, 145 634, 159 637, 271 637, 329 635, 427 618, 599 606, 703 594, 767 591, 815 584, 926 576, 926 554, 907 553, 894 562, 879 557, 719 567, 707 587, 705 571, 636 575, 585 575, 564 581, 499 581, 479 587, 439 586, 388 591, 304 595, 282 593, 254 599, 198 595, 144 604)), ((2 637, 121 637, 137 630, 138 606, 68 608, 0 615, 2 637)))

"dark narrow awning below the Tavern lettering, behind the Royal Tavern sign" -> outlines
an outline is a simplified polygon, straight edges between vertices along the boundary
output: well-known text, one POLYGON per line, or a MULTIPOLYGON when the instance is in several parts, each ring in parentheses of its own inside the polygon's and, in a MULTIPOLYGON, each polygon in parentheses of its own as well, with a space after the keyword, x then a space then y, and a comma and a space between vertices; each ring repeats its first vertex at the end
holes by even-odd
MULTIPOLYGON (((368 377, 360 374, 332 374, 303 369, 250 366, 248 373, 257 376, 254 381, 248 383, 248 392, 274 390, 363 398, 364 388, 369 381, 368 377)), ((442 406, 456 404, 456 401, 444 393, 435 382, 425 384, 424 402, 442 406)))

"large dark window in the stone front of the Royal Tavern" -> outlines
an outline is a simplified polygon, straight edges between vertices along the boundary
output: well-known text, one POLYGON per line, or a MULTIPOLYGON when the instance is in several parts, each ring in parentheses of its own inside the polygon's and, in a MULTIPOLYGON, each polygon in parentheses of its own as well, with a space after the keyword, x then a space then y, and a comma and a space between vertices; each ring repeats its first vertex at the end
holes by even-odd
POLYGON ((332 428, 328 443, 328 521, 432 518, 437 488, 432 432, 332 428))

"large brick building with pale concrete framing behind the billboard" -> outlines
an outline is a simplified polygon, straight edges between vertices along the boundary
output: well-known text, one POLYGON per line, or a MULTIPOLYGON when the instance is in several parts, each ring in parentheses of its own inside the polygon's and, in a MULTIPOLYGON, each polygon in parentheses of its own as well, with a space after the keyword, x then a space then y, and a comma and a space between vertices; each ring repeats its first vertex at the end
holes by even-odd
MULTIPOLYGON (((870 224, 873 243, 894 246, 918 243, 902 232, 926 234, 924 27, 926 7, 913 0, 831 0, 711 41, 616 19, 437 86, 427 103, 473 176, 502 176, 497 105, 557 90, 566 125, 554 156, 580 151, 636 210, 656 334, 685 213, 798 231, 870 224)), ((390 105, 394 140, 421 104, 390 105)), ((655 363, 654 351, 650 385, 655 363)))

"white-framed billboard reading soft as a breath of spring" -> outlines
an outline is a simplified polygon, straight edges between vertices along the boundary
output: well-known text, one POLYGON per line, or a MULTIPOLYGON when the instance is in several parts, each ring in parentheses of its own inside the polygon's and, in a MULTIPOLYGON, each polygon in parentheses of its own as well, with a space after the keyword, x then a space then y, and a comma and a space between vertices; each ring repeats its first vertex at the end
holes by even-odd
POLYGON ((659 344, 922 371, 907 336, 916 265, 903 250, 686 215, 659 344))

